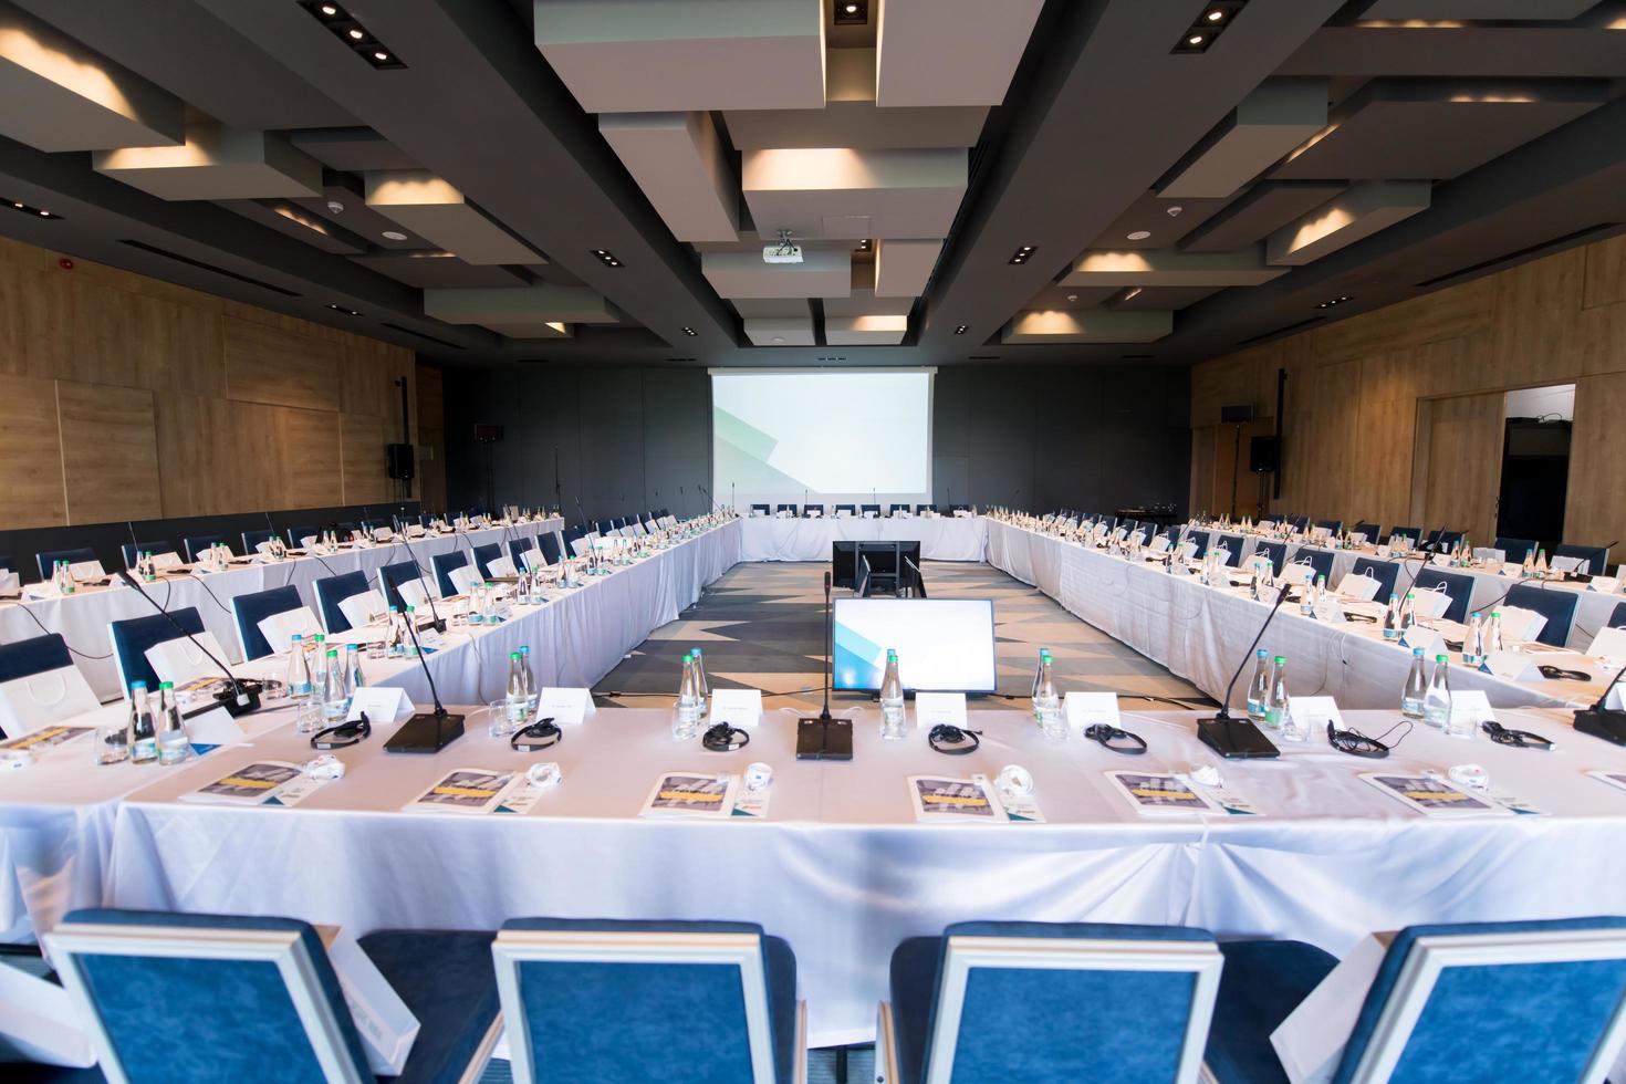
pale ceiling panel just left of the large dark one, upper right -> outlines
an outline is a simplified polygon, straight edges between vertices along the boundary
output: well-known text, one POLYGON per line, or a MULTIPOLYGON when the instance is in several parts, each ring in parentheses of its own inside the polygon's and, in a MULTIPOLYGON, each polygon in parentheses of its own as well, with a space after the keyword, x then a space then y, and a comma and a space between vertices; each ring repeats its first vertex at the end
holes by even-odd
POLYGON ((1267 80, 1197 145, 1159 195, 1229 197, 1324 127, 1324 80, 1267 80))

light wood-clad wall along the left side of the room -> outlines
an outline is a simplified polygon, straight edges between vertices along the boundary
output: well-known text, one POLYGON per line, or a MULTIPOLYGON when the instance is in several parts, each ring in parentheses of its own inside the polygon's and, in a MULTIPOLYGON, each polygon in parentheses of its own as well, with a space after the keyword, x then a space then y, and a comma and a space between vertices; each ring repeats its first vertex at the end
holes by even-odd
POLYGON ((0 239, 0 528, 395 496, 413 351, 0 239))

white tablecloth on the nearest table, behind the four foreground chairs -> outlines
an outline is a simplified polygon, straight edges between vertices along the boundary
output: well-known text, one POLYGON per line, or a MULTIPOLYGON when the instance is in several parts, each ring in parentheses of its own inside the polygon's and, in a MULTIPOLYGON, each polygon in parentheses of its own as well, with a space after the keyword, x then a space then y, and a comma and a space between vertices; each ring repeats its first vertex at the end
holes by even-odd
MULTIPOLYGON (((1299 938, 1332 952, 1419 921, 1546 918, 1626 910, 1626 791, 1584 775, 1626 769, 1626 751, 1551 713, 1504 713, 1553 752, 1459 741, 1418 728, 1382 762, 1325 738, 1275 762, 1224 764, 1263 817, 1145 817, 1106 770, 1213 762, 1197 713, 1125 713, 1151 746, 1109 752, 1076 731, 1046 743, 1021 712, 977 712, 982 749, 945 757, 915 728, 881 741, 860 710, 849 764, 793 759, 793 712, 769 712, 750 746, 676 744, 668 710, 602 710, 546 752, 515 754, 472 731, 434 757, 389 756, 377 738, 341 752, 345 780, 294 809, 179 803, 198 785, 159 775, 115 817, 109 902, 294 915, 356 933, 380 926, 494 930, 522 915, 759 921, 790 939, 815 1045, 872 1035, 888 959, 907 936, 1000 918, 1145 921, 1220 934, 1299 938), (528 816, 405 814, 454 767, 559 762, 564 782, 528 816), (657 774, 774 769, 766 821, 652 821, 637 811, 657 774), (1553 816, 1436 821, 1358 774, 1475 761, 1553 816), (1023 764, 1047 824, 917 824, 906 777, 993 777, 1023 764), (343 816, 337 816, 343 814, 343 816)), ((911 712, 912 717, 912 712, 911 712)), ((1393 712, 1351 713, 1380 733, 1393 712)), ((307 756, 296 735, 218 756, 307 756)))

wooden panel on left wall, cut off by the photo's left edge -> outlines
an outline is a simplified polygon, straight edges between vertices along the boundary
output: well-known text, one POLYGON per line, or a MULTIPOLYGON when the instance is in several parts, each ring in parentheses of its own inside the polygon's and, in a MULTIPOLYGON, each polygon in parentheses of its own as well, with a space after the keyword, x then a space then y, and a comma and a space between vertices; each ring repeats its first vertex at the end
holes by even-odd
POLYGON ((0 375, 0 528, 65 523, 55 384, 0 375))

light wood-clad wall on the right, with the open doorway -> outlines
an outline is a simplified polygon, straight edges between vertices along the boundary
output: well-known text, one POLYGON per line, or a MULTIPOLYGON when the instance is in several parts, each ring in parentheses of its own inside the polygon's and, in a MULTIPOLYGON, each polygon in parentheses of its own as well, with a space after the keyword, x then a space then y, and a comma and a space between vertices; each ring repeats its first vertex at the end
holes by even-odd
POLYGON ((1229 449, 1216 447, 1233 427, 1220 408, 1252 403, 1273 418, 1278 369, 1285 473, 1270 510, 1384 525, 1449 510, 1454 522, 1423 525, 1488 541, 1496 486, 1483 475, 1501 470, 1501 426, 1468 424, 1473 403, 1442 400, 1574 382, 1564 540, 1626 538, 1626 237, 1193 366, 1193 509, 1229 502, 1229 449), (1431 460, 1442 450, 1436 421, 1455 434, 1446 463, 1431 460), (1446 502, 1442 486, 1460 499, 1446 502))

